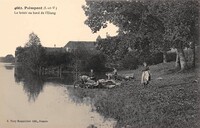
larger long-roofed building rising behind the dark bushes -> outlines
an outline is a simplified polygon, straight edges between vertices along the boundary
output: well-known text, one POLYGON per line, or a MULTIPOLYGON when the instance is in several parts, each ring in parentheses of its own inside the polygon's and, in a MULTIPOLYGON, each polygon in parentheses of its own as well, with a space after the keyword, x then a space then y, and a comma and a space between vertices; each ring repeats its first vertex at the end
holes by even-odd
POLYGON ((64 46, 65 51, 73 52, 75 50, 96 51, 96 42, 94 41, 69 41, 64 46))

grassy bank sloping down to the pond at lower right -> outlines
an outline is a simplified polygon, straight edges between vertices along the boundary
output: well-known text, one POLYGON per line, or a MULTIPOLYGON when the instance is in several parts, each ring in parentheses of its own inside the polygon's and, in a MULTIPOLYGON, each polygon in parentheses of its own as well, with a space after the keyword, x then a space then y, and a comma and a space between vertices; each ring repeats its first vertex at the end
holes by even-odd
POLYGON ((79 99, 90 97, 96 111, 117 120, 116 128, 197 128, 199 124, 199 81, 197 70, 173 72, 174 63, 150 66, 152 81, 140 84, 141 68, 120 71, 135 81, 113 89, 74 89, 79 99), (162 77, 162 79, 157 79, 162 77))

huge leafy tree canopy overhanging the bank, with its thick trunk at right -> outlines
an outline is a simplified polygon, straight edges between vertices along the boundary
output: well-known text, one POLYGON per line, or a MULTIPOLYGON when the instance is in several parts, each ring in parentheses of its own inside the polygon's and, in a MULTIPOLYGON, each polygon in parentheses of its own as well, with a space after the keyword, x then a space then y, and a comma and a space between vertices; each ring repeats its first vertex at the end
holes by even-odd
POLYGON ((86 0, 83 9, 88 17, 85 24, 92 32, 113 23, 126 45, 147 56, 159 51, 165 56, 167 50, 176 48, 184 70, 187 63, 183 49, 197 35, 193 29, 198 25, 198 7, 197 0, 86 0))

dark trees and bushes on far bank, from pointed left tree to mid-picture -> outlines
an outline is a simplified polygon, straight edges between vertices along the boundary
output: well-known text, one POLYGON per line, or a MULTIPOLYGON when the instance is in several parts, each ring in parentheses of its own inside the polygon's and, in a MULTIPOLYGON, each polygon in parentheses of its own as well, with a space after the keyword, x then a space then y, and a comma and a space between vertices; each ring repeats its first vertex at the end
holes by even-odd
POLYGON ((101 53, 93 53, 85 49, 73 52, 49 52, 40 43, 39 37, 31 33, 29 41, 24 47, 17 47, 16 62, 32 72, 39 72, 41 68, 62 67, 68 71, 105 71, 106 57, 101 53))

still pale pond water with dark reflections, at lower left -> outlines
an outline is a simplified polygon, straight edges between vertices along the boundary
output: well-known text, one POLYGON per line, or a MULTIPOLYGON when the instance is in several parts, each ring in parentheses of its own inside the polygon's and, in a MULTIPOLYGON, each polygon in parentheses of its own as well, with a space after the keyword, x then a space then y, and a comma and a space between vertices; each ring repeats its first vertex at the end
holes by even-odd
POLYGON ((109 128, 115 121, 95 111, 92 99, 73 96, 73 75, 40 78, 0 63, 0 127, 109 128))

